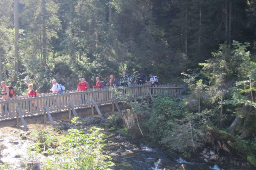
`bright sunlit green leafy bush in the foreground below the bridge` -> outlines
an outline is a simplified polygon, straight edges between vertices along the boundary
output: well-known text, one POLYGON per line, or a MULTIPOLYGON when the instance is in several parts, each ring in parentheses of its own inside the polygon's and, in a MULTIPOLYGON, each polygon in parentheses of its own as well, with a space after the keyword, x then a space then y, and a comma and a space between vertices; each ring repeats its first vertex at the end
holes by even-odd
MULTIPOLYGON (((72 121, 80 124, 78 118, 72 121)), ((52 154, 52 158, 45 158, 41 164, 42 169, 102 169, 108 170, 114 164, 109 156, 103 155, 104 145, 103 129, 92 127, 89 133, 78 129, 69 129, 66 134, 59 135, 54 129, 38 129, 30 137, 36 143, 29 147, 30 150, 52 154)))

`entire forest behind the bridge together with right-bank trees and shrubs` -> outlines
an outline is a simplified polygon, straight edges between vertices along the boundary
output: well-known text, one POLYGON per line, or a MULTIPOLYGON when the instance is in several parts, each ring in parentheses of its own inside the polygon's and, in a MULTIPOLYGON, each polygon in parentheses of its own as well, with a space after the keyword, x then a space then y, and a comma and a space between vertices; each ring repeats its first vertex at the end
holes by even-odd
POLYGON ((215 138, 254 166, 255 40, 256 0, 0 0, 0 80, 19 94, 50 92, 53 78, 92 87, 123 68, 186 83, 150 114, 136 107, 148 139, 195 152, 215 138))

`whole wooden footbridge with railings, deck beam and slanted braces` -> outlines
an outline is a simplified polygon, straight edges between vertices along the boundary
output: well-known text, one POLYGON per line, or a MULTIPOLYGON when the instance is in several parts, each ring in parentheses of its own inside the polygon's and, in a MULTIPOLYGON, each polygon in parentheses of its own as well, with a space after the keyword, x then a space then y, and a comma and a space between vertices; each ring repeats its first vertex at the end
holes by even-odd
MULTIPOLYGON (((134 100, 153 99, 164 90, 174 97, 180 97, 183 87, 159 85, 150 87, 146 85, 131 85, 118 88, 123 95, 131 93, 134 100)), ((82 92, 66 91, 63 94, 42 93, 33 98, 16 96, 11 100, 0 102, 0 127, 23 125, 28 130, 27 124, 46 123, 48 120, 71 119, 76 116, 102 117, 102 113, 119 111, 127 106, 117 100, 109 89, 86 90, 82 92), (73 114, 72 114, 73 113, 73 114)))

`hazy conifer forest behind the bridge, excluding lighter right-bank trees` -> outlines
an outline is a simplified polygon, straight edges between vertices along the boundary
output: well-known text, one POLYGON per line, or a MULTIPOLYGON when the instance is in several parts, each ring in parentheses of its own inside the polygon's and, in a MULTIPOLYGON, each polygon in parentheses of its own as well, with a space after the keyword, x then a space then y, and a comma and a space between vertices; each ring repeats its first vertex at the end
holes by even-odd
POLYGON ((255 0, 1 0, 0 80, 74 89, 127 64, 178 84, 220 44, 248 42, 254 54, 255 18, 255 0))

